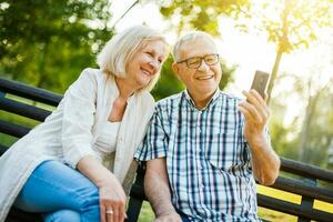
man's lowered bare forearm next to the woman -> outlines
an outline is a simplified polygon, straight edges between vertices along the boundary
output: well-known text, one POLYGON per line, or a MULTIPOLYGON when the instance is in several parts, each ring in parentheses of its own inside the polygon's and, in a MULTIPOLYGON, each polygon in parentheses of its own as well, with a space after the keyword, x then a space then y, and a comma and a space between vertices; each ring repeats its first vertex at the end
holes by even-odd
POLYGON ((165 158, 147 162, 144 191, 155 212, 155 222, 181 222, 180 215, 175 212, 171 203, 165 158))

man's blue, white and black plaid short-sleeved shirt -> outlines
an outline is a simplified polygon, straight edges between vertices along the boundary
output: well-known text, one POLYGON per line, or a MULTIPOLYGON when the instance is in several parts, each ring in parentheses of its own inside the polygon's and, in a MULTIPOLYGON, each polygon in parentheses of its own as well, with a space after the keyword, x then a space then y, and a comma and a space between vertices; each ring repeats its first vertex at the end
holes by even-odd
POLYGON ((135 153, 167 158, 172 203, 191 221, 259 221, 239 101, 220 90, 202 110, 188 91, 161 100, 135 153))

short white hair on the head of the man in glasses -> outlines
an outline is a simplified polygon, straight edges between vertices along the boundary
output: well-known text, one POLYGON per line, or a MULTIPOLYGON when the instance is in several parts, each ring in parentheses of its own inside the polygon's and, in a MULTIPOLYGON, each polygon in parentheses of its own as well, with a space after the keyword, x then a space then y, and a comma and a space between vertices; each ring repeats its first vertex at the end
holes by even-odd
POLYGON ((213 46, 216 48, 216 44, 214 42, 214 39, 212 38, 212 36, 210 36, 209 33, 206 32, 203 32, 203 31, 191 31, 186 34, 184 34, 183 37, 181 37, 174 44, 173 47, 173 50, 172 50, 172 57, 173 57, 173 60, 175 62, 179 61, 180 59, 180 51, 183 47, 183 44, 188 41, 191 41, 191 40, 195 40, 195 39, 206 39, 209 40, 210 42, 213 43, 213 46))

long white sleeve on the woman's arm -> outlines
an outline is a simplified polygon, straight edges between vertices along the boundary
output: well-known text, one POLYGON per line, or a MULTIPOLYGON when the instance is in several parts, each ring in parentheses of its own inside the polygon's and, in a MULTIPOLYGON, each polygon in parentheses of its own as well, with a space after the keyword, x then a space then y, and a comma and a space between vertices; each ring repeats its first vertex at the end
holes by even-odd
POLYGON ((97 80, 85 69, 63 98, 62 148, 64 161, 72 168, 85 155, 99 158, 92 150, 97 80))

